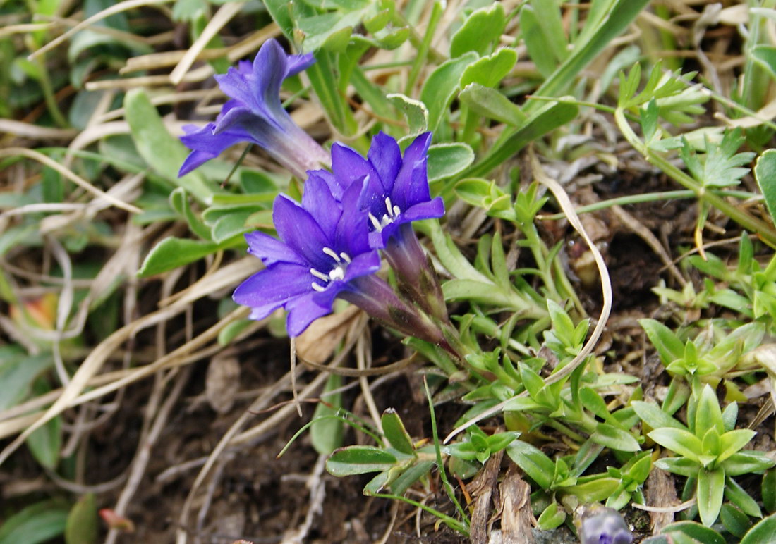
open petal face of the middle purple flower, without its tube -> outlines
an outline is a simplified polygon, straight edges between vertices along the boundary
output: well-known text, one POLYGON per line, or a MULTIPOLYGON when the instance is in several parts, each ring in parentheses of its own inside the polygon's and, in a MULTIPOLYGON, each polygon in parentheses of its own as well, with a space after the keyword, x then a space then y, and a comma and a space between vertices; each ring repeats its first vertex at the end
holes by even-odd
POLYGON ((331 169, 325 179, 337 197, 354 183, 365 180, 359 207, 369 219, 370 243, 383 248, 405 223, 445 215, 442 198, 431 198, 426 161, 431 133, 417 136, 404 151, 395 139, 378 133, 372 139, 367 158, 352 148, 335 143, 331 148, 331 169))

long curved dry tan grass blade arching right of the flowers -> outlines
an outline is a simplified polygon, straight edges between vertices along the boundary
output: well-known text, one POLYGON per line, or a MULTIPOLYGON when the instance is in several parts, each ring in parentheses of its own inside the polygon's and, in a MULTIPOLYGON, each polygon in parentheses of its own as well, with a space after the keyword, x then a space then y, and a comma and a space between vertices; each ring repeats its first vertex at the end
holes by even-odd
MULTIPOLYGON (((528 152, 531 157, 531 167, 536 180, 539 181, 539 183, 542 185, 545 185, 546 188, 548 188, 553 193, 553 196, 556 198, 556 201, 558 201, 560 208, 563 209, 563 212, 566 214, 566 218, 568 218, 571 226, 573 226, 574 230, 579 232, 580 236, 582 236, 582 239, 584 239, 584 241, 587 243, 587 246, 590 248, 591 253, 593 253, 596 266, 598 267, 598 274, 601 275, 601 291, 603 293, 604 300, 601 308, 601 315, 598 316, 598 322, 595 324, 590 338, 587 339, 587 342, 584 344, 584 346, 582 346, 582 349, 580 349, 580 353, 577 354, 577 356, 575 356, 570 361, 570 363, 566 364, 565 367, 558 370, 556 373, 551 374, 546 378, 546 380, 544 380, 545 384, 555 384, 559 380, 563 380, 563 378, 571 374, 587 358, 587 356, 593 352, 593 348, 598 343, 598 339, 600 339, 601 335, 604 333, 606 322, 608 321, 609 315, 611 314, 611 301, 613 294, 611 291, 611 277, 609 277, 609 270, 606 267, 606 263, 604 262, 604 257, 601 255, 601 251, 598 250, 598 247, 595 245, 591 237, 587 234, 584 226, 582 226, 579 215, 577 215, 577 212, 574 211, 574 205, 572 204, 569 195, 566 195, 566 191, 563 190, 563 187, 557 181, 553 180, 553 178, 549 177, 545 173, 544 169, 542 168, 542 164, 539 163, 539 160, 536 158, 533 149, 529 148, 528 152)), ((516 395, 513 398, 525 397, 527 394, 528 391, 524 391, 523 393, 516 395)), ((453 429, 453 431, 445 437, 445 444, 459 432, 468 429, 476 422, 480 422, 484 418, 489 418, 491 415, 497 414, 503 410, 507 405, 509 405, 513 398, 508 398, 506 401, 500 402, 492 408, 488 408, 486 411, 483 411, 481 414, 476 415, 476 417, 469 419, 467 422, 456 427, 456 429, 453 429)))

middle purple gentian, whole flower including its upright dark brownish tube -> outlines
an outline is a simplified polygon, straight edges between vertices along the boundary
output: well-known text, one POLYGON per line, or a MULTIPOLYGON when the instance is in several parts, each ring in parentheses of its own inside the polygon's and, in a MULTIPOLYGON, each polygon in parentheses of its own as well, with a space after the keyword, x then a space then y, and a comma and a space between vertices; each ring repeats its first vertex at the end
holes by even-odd
POLYGON ((359 208, 369 218, 369 241, 382 249, 397 274, 401 291, 424 311, 442 321, 447 308, 434 268, 418 241, 411 222, 445 215, 442 198, 431 198, 427 155, 431 133, 407 146, 404 157, 397 141, 384 133, 372 139, 367 157, 341 143, 331 148, 333 174, 317 174, 335 198, 354 183, 364 183, 359 208))

